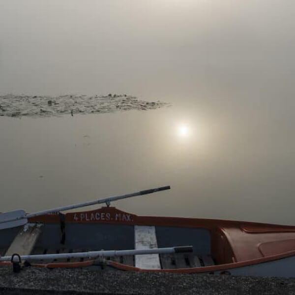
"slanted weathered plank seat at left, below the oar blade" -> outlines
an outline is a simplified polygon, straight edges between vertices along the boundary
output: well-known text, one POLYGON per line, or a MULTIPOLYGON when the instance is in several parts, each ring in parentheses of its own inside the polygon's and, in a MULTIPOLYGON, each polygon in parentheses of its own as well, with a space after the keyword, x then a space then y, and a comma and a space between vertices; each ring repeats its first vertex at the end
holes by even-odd
POLYGON ((35 243, 42 232, 42 224, 28 223, 15 236, 14 240, 7 249, 5 256, 11 256, 14 253, 19 255, 29 255, 35 243))

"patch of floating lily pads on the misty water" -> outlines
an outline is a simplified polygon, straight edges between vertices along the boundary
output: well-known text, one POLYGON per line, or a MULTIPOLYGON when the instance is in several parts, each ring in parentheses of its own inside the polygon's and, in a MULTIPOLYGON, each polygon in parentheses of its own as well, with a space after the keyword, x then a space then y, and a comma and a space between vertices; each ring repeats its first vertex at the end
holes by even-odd
POLYGON ((169 106, 161 101, 144 101, 130 95, 0 96, 0 116, 49 117, 63 114, 102 114, 129 110, 154 110, 169 106))

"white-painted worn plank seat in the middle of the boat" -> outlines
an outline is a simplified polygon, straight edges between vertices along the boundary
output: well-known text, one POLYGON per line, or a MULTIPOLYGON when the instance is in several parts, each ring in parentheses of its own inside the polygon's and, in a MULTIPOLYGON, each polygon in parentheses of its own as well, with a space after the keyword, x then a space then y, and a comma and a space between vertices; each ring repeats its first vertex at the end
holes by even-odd
MULTIPOLYGON (((135 249, 157 248, 156 230, 154 226, 134 226, 135 249)), ((135 255, 135 266, 145 269, 160 269, 159 254, 135 255)))

